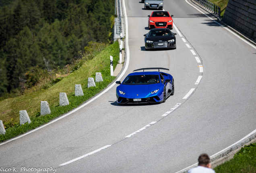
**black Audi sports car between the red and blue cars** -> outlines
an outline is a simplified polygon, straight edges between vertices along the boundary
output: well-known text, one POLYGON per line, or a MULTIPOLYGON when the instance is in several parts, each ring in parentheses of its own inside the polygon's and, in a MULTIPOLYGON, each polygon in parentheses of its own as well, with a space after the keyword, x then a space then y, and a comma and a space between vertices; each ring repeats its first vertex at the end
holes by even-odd
POLYGON ((176 33, 168 28, 151 29, 145 34, 145 50, 149 49, 176 49, 176 33))

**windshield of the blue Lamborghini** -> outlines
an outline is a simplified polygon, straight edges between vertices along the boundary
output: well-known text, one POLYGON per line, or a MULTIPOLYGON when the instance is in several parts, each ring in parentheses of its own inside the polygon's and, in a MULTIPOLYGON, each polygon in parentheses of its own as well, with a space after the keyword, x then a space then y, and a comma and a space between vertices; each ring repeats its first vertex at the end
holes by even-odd
POLYGON ((123 82, 123 84, 129 84, 129 85, 155 84, 155 83, 159 83, 159 75, 155 75, 155 74, 127 76, 123 82))

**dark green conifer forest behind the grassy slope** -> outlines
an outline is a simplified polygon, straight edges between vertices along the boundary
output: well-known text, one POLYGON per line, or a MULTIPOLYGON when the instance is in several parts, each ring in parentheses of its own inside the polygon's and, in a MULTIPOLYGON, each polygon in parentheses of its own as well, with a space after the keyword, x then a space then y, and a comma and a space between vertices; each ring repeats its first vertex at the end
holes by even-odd
POLYGON ((28 70, 63 68, 89 42, 109 43, 114 3, 0 0, 0 97, 18 91, 28 70))

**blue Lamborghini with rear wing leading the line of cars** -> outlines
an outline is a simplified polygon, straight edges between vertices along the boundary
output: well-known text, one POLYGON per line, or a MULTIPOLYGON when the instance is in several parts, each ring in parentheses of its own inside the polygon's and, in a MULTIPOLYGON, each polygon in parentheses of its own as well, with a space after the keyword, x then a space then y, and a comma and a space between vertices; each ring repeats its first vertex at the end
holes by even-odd
POLYGON ((171 74, 160 72, 167 68, 140 68, 126 76, 124 81, 116 87, 118 104, 128 103, 158 103, 165 102, 169 95, 174 95, 174 79, 171 74), (158 70, 146 71, 145 70, 158 70))

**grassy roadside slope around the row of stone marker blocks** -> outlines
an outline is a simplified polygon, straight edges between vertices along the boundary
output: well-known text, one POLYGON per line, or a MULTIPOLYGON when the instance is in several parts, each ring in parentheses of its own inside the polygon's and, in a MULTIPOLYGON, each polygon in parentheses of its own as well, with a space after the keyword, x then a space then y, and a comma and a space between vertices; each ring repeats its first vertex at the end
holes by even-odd
POLYGON ((114 68, 119 60, 119 44, 115 42, 103 51, 94 54, 91 60, 86 61, 78 70, 64 77, 60 82, 48 89, 29 91, 25 95, 0 101, 0 120, 4 121, 6 134, 0 135, 0 142, 23 134, 31 129, 43 125, 52 119, 78 107, 101 90, 105 89, 116 77, 110 76, 110 57, 113 56, 114 68), (96 87, 87 88, 88 77, 94 77, 101 72, 103 82, 96 82, 96 87), (84 96, 74 96, 74 85, 81 84, 84 96), (69 105, 59 106, 59 93, 66 93, 69 105), (40 116, 41 101, 49 103, 52 114, 40 116), (31 123, 19 125, 19 111, 27 110, 31 123))

